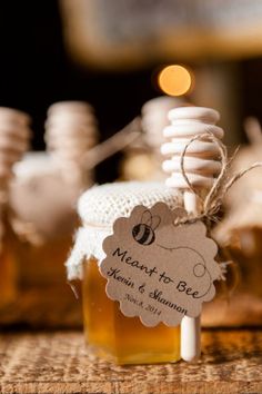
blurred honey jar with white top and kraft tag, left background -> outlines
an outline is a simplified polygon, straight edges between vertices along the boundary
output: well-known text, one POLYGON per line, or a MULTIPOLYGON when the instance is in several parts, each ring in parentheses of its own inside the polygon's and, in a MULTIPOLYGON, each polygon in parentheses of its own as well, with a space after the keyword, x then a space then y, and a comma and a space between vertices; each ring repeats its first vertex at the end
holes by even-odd
POLYGON ((78 194, 47 152, 30 152, 16 166, 10 199, 20 220, 16 226, 22 287, 52 285, 63 276, 78 194))

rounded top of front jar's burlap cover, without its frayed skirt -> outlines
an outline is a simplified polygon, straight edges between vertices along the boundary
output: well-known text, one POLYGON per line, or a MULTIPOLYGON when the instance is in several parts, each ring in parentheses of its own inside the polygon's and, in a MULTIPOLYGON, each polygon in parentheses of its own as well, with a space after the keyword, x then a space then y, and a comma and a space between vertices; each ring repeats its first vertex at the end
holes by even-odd
POLYGON ((93 186, 79 199, 78 213, 88 226, 112 226, 120 216, 129 216, 137 205, 151 208, 155 203, 178 205, 178 191, 161 181, 120 181, 93 186))

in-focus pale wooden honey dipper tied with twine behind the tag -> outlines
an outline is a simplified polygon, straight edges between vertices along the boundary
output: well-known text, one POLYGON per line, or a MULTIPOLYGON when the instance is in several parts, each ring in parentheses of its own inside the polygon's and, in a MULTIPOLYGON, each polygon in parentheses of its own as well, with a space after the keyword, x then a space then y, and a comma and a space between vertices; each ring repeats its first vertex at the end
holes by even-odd
MULTIPOLYGON (((219 161, 220 151, 215 142, 206 138, 192 141, 187 149, 183 167, 185 175, 198 190, 194 194, 184 179, 181 170, 181 155, 185 146, 194 136, 212 134, 215 138, 223 138, 223 130, 215 126, 220 119, 218 111, 203 107, 181 107, 169 111, 171 125, 165 127, 163 135, 170 139, 161 146, 161 152, 171 157, 163 162, 163 170, 170 174, 165 180, 168 187, 183 191, 184 208, 188 213, 199 214, 201 200, 198 195, 204 196, 213 185, 214 178, 221 171, 219 161)), ((196 361, 201 353, 200 346, 200 316, 192 318, 184 316, 181 322, 181 357, 184 361, 196 361)))

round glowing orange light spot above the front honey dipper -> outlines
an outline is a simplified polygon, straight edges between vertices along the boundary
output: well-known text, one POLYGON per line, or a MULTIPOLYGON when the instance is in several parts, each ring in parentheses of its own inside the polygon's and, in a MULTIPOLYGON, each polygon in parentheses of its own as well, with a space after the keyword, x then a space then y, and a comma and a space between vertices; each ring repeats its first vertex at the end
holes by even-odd
POLYGON ((187 93, 192 85, 190 71, 179 65, 163 68, 158 76, 160 89, 169 96, 182 96, 187 93))

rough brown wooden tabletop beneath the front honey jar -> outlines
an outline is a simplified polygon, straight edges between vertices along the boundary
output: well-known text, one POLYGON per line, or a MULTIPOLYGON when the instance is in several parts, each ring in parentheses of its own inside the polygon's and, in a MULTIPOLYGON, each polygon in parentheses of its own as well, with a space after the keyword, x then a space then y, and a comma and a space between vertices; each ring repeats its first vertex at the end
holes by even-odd
POLYGON ((0 335, 1 393, 258 394, 262 329, 202 334, 198 364, 115 366, 92 359, 81 332, 0 335))

